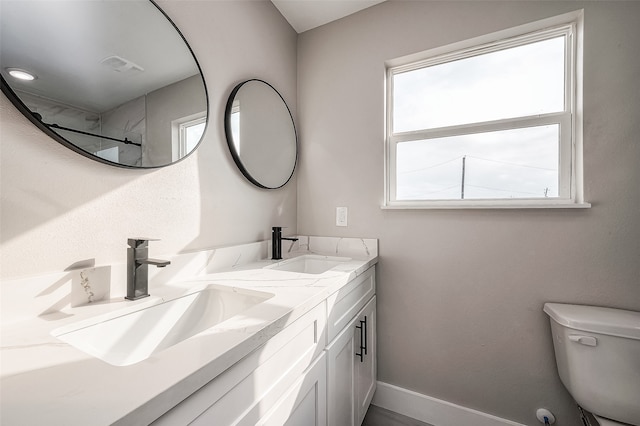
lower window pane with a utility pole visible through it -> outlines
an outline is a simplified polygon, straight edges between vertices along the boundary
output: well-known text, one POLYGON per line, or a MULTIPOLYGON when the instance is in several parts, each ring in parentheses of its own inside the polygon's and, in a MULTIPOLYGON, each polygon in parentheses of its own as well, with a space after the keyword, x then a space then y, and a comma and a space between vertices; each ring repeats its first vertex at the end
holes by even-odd
POLYGON ((397 144, 397 200, 558 197, 559 126, 397 144))

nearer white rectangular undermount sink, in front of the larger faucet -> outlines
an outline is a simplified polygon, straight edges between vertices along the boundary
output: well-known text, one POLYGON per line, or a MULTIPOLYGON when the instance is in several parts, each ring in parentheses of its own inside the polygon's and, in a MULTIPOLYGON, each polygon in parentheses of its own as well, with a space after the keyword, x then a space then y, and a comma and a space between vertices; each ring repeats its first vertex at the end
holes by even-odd
POLYGON ((109 364, 135 364, 273 297, 215 284, 199 291, 93 323, 53 330, 54 337, 109 364))

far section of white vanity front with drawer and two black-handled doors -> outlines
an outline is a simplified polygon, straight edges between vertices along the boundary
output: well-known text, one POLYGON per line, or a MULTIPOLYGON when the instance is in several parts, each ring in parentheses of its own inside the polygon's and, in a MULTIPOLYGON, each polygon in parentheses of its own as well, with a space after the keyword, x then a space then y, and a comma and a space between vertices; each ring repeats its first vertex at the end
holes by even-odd
POLYGON ((361 425, 375 392, 374 271, 369 269, 328 301, 327 413, 330 426, 361 425), (339 329, 345 322, 346 325, 339 329), (336 337, 332 338, 334 335, 336 337))

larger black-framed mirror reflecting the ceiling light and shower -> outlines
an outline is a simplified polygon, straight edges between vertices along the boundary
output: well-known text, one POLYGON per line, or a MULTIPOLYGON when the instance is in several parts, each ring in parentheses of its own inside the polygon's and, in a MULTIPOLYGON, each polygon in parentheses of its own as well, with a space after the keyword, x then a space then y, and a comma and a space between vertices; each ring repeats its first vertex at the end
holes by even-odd
POLYGON ((150 0, 2 0, 2 91, 40 129, 94 160, 166 166, 204 133, 200 67, 150 0))

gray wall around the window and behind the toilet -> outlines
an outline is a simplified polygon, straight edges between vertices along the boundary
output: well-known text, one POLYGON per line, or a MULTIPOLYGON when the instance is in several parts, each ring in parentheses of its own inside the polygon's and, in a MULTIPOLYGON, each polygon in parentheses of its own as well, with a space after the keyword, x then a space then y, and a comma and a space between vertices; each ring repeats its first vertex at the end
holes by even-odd
POLYGON ((380 239, 379 379, 578 426, 546 301, 640 310, 640 2, 389 1, 298 41, 298 231, 380 239), (381 210, 384 61, 584 8, 590 210, 381 210), (335 227, 336 206, 349 227, 335 227))

